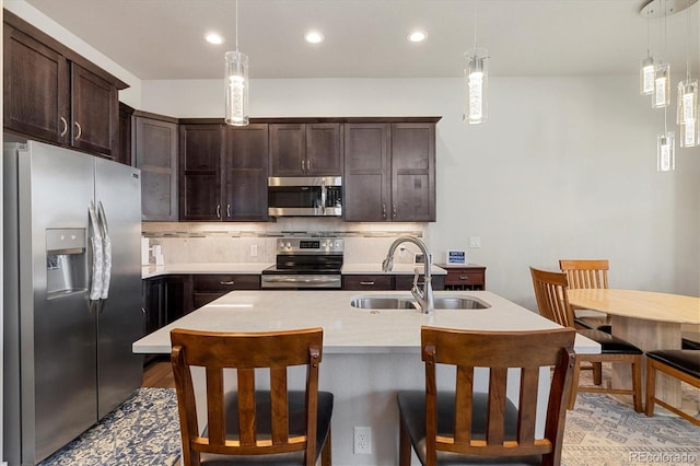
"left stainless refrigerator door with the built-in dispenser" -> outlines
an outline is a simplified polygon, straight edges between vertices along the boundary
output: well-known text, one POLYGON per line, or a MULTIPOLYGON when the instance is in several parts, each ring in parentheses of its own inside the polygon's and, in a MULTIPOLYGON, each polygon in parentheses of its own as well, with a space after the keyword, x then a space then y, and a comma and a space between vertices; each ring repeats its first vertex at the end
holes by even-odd
POLYGON ((94 164, 34 141, 18 155, 22 462, 34 464, 96 420, 86 271, 94 164))

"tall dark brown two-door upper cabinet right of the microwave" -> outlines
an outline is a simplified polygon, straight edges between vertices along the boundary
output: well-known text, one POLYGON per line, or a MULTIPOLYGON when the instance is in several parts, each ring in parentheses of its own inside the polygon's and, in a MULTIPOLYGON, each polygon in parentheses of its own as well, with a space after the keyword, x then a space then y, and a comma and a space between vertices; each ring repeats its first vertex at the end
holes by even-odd
POLYGON ((435 221, 435 123, 345 125, 345 220, 435 221))

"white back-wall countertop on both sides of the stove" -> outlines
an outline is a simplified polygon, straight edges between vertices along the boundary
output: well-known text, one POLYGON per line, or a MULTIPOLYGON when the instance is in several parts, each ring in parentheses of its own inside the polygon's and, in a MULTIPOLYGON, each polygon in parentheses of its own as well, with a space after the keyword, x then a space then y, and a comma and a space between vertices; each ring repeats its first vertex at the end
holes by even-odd
MULTIPOLYGON (((211 264, 167 264, 164 266, 142 266, 141 278, 153 278, 163 275, 175 273, 260 273, 272 263, 211 263, 211 264)), ((422 265, 394 264, 394 269, 387 275, 413 275, 418 267, 421 272, 422 265)), ((447 271, 435 265, 430 268, 432 275, 446 275, 447 271)), ((376 264, 343 264, 341 273, 345 275, 383 275, 382 263, 376 264)))

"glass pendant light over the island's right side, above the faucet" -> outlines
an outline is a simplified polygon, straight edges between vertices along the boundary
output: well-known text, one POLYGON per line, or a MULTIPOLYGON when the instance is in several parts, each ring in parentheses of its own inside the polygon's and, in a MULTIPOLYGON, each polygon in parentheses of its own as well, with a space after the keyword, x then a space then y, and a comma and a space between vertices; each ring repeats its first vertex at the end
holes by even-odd
POLYGON ((489 72, 487 59, 489 51, 486 48, 477 47, 477 7, 474 7, 474 48, 466 51, 464 80, 465 80, 465 102, 462 119, 469 125, 478 125, 487 119, 487 90, 489 84, 489 72))

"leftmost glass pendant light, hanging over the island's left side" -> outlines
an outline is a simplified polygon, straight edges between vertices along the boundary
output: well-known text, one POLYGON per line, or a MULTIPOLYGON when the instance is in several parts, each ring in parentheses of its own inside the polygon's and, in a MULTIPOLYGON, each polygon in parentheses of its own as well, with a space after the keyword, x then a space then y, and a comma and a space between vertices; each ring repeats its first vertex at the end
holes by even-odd
POLYGON ((226 94, 226 125, 248 124, 248 56, 238 51, 238 0, 236 0, 236 49, 224 55, 226 94))

